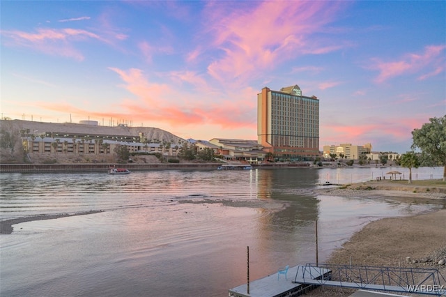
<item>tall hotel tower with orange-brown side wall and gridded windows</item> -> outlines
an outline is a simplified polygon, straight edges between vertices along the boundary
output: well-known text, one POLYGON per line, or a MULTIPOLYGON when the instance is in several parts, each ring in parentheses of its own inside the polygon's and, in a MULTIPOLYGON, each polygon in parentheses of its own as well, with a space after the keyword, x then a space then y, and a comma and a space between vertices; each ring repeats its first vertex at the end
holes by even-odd
POLYGON ((275 158, 313 160, 319 155, 319 100, 302 96, 299 86, 257 95, 257 137, 275 158))

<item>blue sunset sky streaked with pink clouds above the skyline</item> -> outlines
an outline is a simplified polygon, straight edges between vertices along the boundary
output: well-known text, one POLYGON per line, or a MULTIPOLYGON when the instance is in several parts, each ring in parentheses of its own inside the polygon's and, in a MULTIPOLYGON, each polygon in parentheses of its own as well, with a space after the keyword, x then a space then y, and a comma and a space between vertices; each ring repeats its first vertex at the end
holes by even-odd
POLYGON ((257 139, 257 94, 317 96, 320 148, 406 153, 446 114, 446 1, 1 1, 1 117, 257 139))

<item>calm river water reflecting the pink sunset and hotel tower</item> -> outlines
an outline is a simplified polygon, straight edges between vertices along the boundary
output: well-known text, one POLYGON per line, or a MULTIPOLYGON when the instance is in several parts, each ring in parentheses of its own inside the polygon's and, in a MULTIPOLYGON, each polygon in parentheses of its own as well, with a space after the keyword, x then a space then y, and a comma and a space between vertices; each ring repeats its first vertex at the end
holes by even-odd
MULTIPOLYGON (((263 169, 0 174, 0 219, 102 210, 15 224, 1 234, 1 296, 227 296, 279 266, 319 261, 371 220, 436 206, 315 196, 392 169, 263 169)), ((398 169, 408 174, 405 169, 398 169)), ((440 178, 420 168, 415 179, 440 178)))

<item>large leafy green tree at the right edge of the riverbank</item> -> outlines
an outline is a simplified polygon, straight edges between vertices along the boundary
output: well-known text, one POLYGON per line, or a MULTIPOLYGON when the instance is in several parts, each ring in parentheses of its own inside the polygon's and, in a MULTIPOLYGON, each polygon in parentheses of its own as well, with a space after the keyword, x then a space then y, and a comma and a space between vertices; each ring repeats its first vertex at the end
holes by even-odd
POLYGON ((443 166, 443 181, 446 181, 446 116, 429 121, 412 131, 412 149, 420 148, 422 159, 429 158, 436 166, 443 166))

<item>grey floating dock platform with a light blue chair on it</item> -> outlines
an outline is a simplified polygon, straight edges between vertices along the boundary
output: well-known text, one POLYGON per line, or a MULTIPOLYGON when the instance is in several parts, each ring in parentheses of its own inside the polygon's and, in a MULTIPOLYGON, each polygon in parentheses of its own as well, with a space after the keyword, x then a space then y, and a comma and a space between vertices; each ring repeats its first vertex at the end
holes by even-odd
MULTIPOLYGON (((242 284, 233 289, 229 289, 230 297, 279 297, 279 296, 300 296, 305 292, 317 287, 316 284, 298 284, 295 279, 302 279, 303 266, 290 267, 288 273, 280 275, 277 279, 277 272, 272 273, 259 280, 249 282, 249 294, 247 284, 242 284), (298 273, 299 271, 299 273, 298 273)), ((331 271, 326 268, 312 267, 312 277, 319 279, 330 279, 331 271)), ((308 272, 307 272, 308 273, 308 272)))

